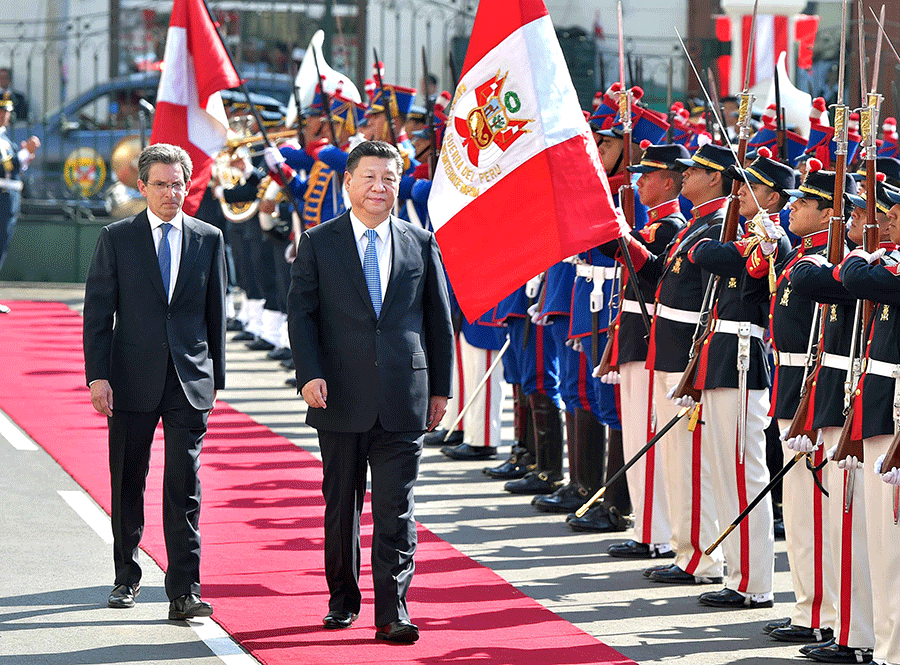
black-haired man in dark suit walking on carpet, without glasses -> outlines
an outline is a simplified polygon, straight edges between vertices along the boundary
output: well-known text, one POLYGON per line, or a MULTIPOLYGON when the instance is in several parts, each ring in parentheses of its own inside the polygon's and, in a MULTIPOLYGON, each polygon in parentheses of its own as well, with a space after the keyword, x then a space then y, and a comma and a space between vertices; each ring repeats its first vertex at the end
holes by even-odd
POLYGON ((297 385, 319 431, 325 496, 326 628, 360 609, 359 518, 372 469, 375 637, 414 642, 406 592, 416 549, 413 485, 422 435, 450 394, 453 330, 434 234, 393 217, 402 161, 380 141, 347 158, 351 209, 300 239, 288 329, 297 385))

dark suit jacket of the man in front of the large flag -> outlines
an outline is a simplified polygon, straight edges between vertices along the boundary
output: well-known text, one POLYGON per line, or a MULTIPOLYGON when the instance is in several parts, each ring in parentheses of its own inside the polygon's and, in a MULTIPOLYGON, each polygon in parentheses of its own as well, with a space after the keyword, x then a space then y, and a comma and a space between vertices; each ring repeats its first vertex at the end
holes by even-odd
POLYGON ((297 387, 325 379, 331 432, 422 431, 432 395, 450 394, 453 329, 434 234, 391 217, 393 264, 376 318, 349 213, 306 231, 291 267, 288 332, 297 387))

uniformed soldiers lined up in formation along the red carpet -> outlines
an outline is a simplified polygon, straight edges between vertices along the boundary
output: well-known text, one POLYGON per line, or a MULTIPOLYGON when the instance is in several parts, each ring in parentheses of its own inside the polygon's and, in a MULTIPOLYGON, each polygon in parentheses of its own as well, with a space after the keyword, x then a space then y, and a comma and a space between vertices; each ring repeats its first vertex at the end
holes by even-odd
MULTIPOLYGON (((233 159, 240 182, 210 189, 213 204, 262 199, 230 226, 244 299, 229 327, 287 368, 291 236, 346 209, 350 148, 398 145, 398 214, 429 227, 450 95, 416 107, 415 90, 376 80, 367 104, 317 92, 295 138, 233 159)), ((900 474, 882 468, 900 419, 896 122, 876 140, 873 116, 833 127, 816 99, 809 136, 774 108, 753 133, 742 97, 730 100, 737 127, 712 131, 680 103, 665 114, 640 97, 616 83, 585 112, 633 231, 548 268, 477 321, 457 310, 453 399, 425 444, 497 457, 505 381, 515 440, 483 473, 573 530, 633 529, 610 556, 655 560, 643 571, 652 583, 719 587, 699 602, 721 609, 773 606, 781 520, 766 493, 782 459, 796 463, 774 503, 795 603, 765 632, 821 662, 898 665, 900 474), (502 375, 491 371, 501 355, 502 375), (859 445, 842 453, 848 441, 859 445)))

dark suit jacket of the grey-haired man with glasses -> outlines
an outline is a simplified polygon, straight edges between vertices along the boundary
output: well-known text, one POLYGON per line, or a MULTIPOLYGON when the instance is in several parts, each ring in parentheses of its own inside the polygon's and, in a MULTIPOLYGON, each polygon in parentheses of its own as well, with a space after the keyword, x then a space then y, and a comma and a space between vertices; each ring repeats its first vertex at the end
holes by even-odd
POLYGON ((225 243, 216 227, 184 216, 169 303, 144 211, 100 232, 84 294, 87 381, 107 379, 117 410, 153 411, 170 354, 191 406, 212 408, 225 387, 225 243))

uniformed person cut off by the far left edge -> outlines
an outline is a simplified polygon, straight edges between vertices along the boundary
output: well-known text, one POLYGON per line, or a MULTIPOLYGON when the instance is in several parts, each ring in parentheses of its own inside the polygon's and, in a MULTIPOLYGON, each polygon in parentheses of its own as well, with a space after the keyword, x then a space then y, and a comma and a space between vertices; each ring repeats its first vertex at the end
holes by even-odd
MULTIPOLYGON (((22 141, 18 148, 12 144, 7 131, 12 113, 13 99, 7 91, 0 99, 0 268, 6 260, 19 218, 22 200, 22 181, 19 177, 41 146, 36 136, 22 141)), ((0 313, 8 311, 5 305, 0 305, 0 313)))

